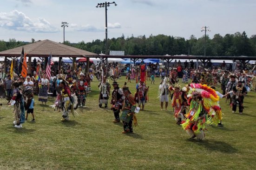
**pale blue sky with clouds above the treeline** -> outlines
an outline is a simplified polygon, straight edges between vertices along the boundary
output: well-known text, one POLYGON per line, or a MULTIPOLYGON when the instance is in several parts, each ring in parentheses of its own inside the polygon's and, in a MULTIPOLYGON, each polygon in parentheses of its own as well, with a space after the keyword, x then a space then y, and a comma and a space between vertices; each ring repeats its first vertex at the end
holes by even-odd
MULTIPOLYGON (((100 0, 0 0, 0 40, 50 39, 91 42, 105 38, 105 8, 100 0)), ((108 2, 108 1, 107 1, 108 2)), ((112 2, 112 1, 110 1, 112 2)), ((256 34, 256 0, 115 0, 108 7, 108 37, 171 35, 201 37, 245 31, 256 34)))

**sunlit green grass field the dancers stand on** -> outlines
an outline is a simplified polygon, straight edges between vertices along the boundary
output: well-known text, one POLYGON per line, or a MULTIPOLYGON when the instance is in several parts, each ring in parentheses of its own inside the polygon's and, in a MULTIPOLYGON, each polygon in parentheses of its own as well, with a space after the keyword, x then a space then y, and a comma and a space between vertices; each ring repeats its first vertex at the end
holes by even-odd
MULTIPOLYGON (((111 109, 98 108, 98 82, 92 82, 86 108, 79 108, 79 116, 71 116, 70 121, 61 122, 60 112, 40 105, 35 97, 36 122, 29 115, 23 128, 16 129, 13 108, 3 106, 0 170, 255 169, 255 92, 245 97, 243 115, 232 114, 222 99, 224 127, 207 126, 206 139, 197 141, 189 140, 175 123, 170 104, 168 111, 160 110, 159 81, 149 84, 149 103, 138 114, 139 126, 133 134, 122 134, 122 123, 112 123, 111 109)), ((124 77, 119 79, 119 86, 124 82, 124 77)), ((134 81, 128 86, 135 92, 134 81)))

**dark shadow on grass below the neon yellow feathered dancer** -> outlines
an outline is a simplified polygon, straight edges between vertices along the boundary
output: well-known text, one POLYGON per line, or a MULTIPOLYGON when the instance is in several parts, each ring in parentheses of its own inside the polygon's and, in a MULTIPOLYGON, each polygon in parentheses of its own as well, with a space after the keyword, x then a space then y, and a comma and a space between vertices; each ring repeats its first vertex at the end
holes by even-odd
POLYGON ((210 151, 219 151, 223 153, 237 152, 236 148, 234 148, 230 144, 223 141, 217 141, 217 140, 203 140, 203 141, 189 140, 189 141, 197 144, 198 146, 203 146, 210 151))

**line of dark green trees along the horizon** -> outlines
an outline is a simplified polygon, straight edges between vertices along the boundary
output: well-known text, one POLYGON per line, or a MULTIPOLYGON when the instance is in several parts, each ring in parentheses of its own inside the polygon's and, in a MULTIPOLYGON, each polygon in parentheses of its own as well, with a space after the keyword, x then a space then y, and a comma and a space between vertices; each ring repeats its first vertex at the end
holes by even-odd
MULTIPOLYGON (((40 40, 39 40, 40 41, 40 40)), ((200 38, 191 35, 189 39, 166 35, 121 37, 108 39, 108 53, 110 50, 125 51, 125 55, 204 55, 205 37, 200 38)), ((16 39, 9 39, 8 42, 0 40, 0 51, 12 49, 28 43, 16 39)), ((96 54, 105 54, 105 40, 99 39, 92 42, 70 43, 66 45, 84 49, 96 54)), ((212 39, 206 36, 206 55, 208 56, 256 56, 256 35, 248 37, 243 33, 226 34, 221 36, 215 34, 212 39)))

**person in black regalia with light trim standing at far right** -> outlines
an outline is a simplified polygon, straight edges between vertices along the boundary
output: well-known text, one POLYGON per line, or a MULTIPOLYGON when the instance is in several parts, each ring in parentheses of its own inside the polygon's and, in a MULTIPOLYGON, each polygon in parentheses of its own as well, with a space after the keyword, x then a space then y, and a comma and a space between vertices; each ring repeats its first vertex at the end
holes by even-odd
POLYGON ((246 88, 243 86, 243 81, 238 81, 238 84, 233 87, 234 95, 231 98, 231 106, 232 106, 232 113, 236 113, 236 105, 238 104, 239 113, 243 113, 243 98, 246 95, 247 91, 246 88))

